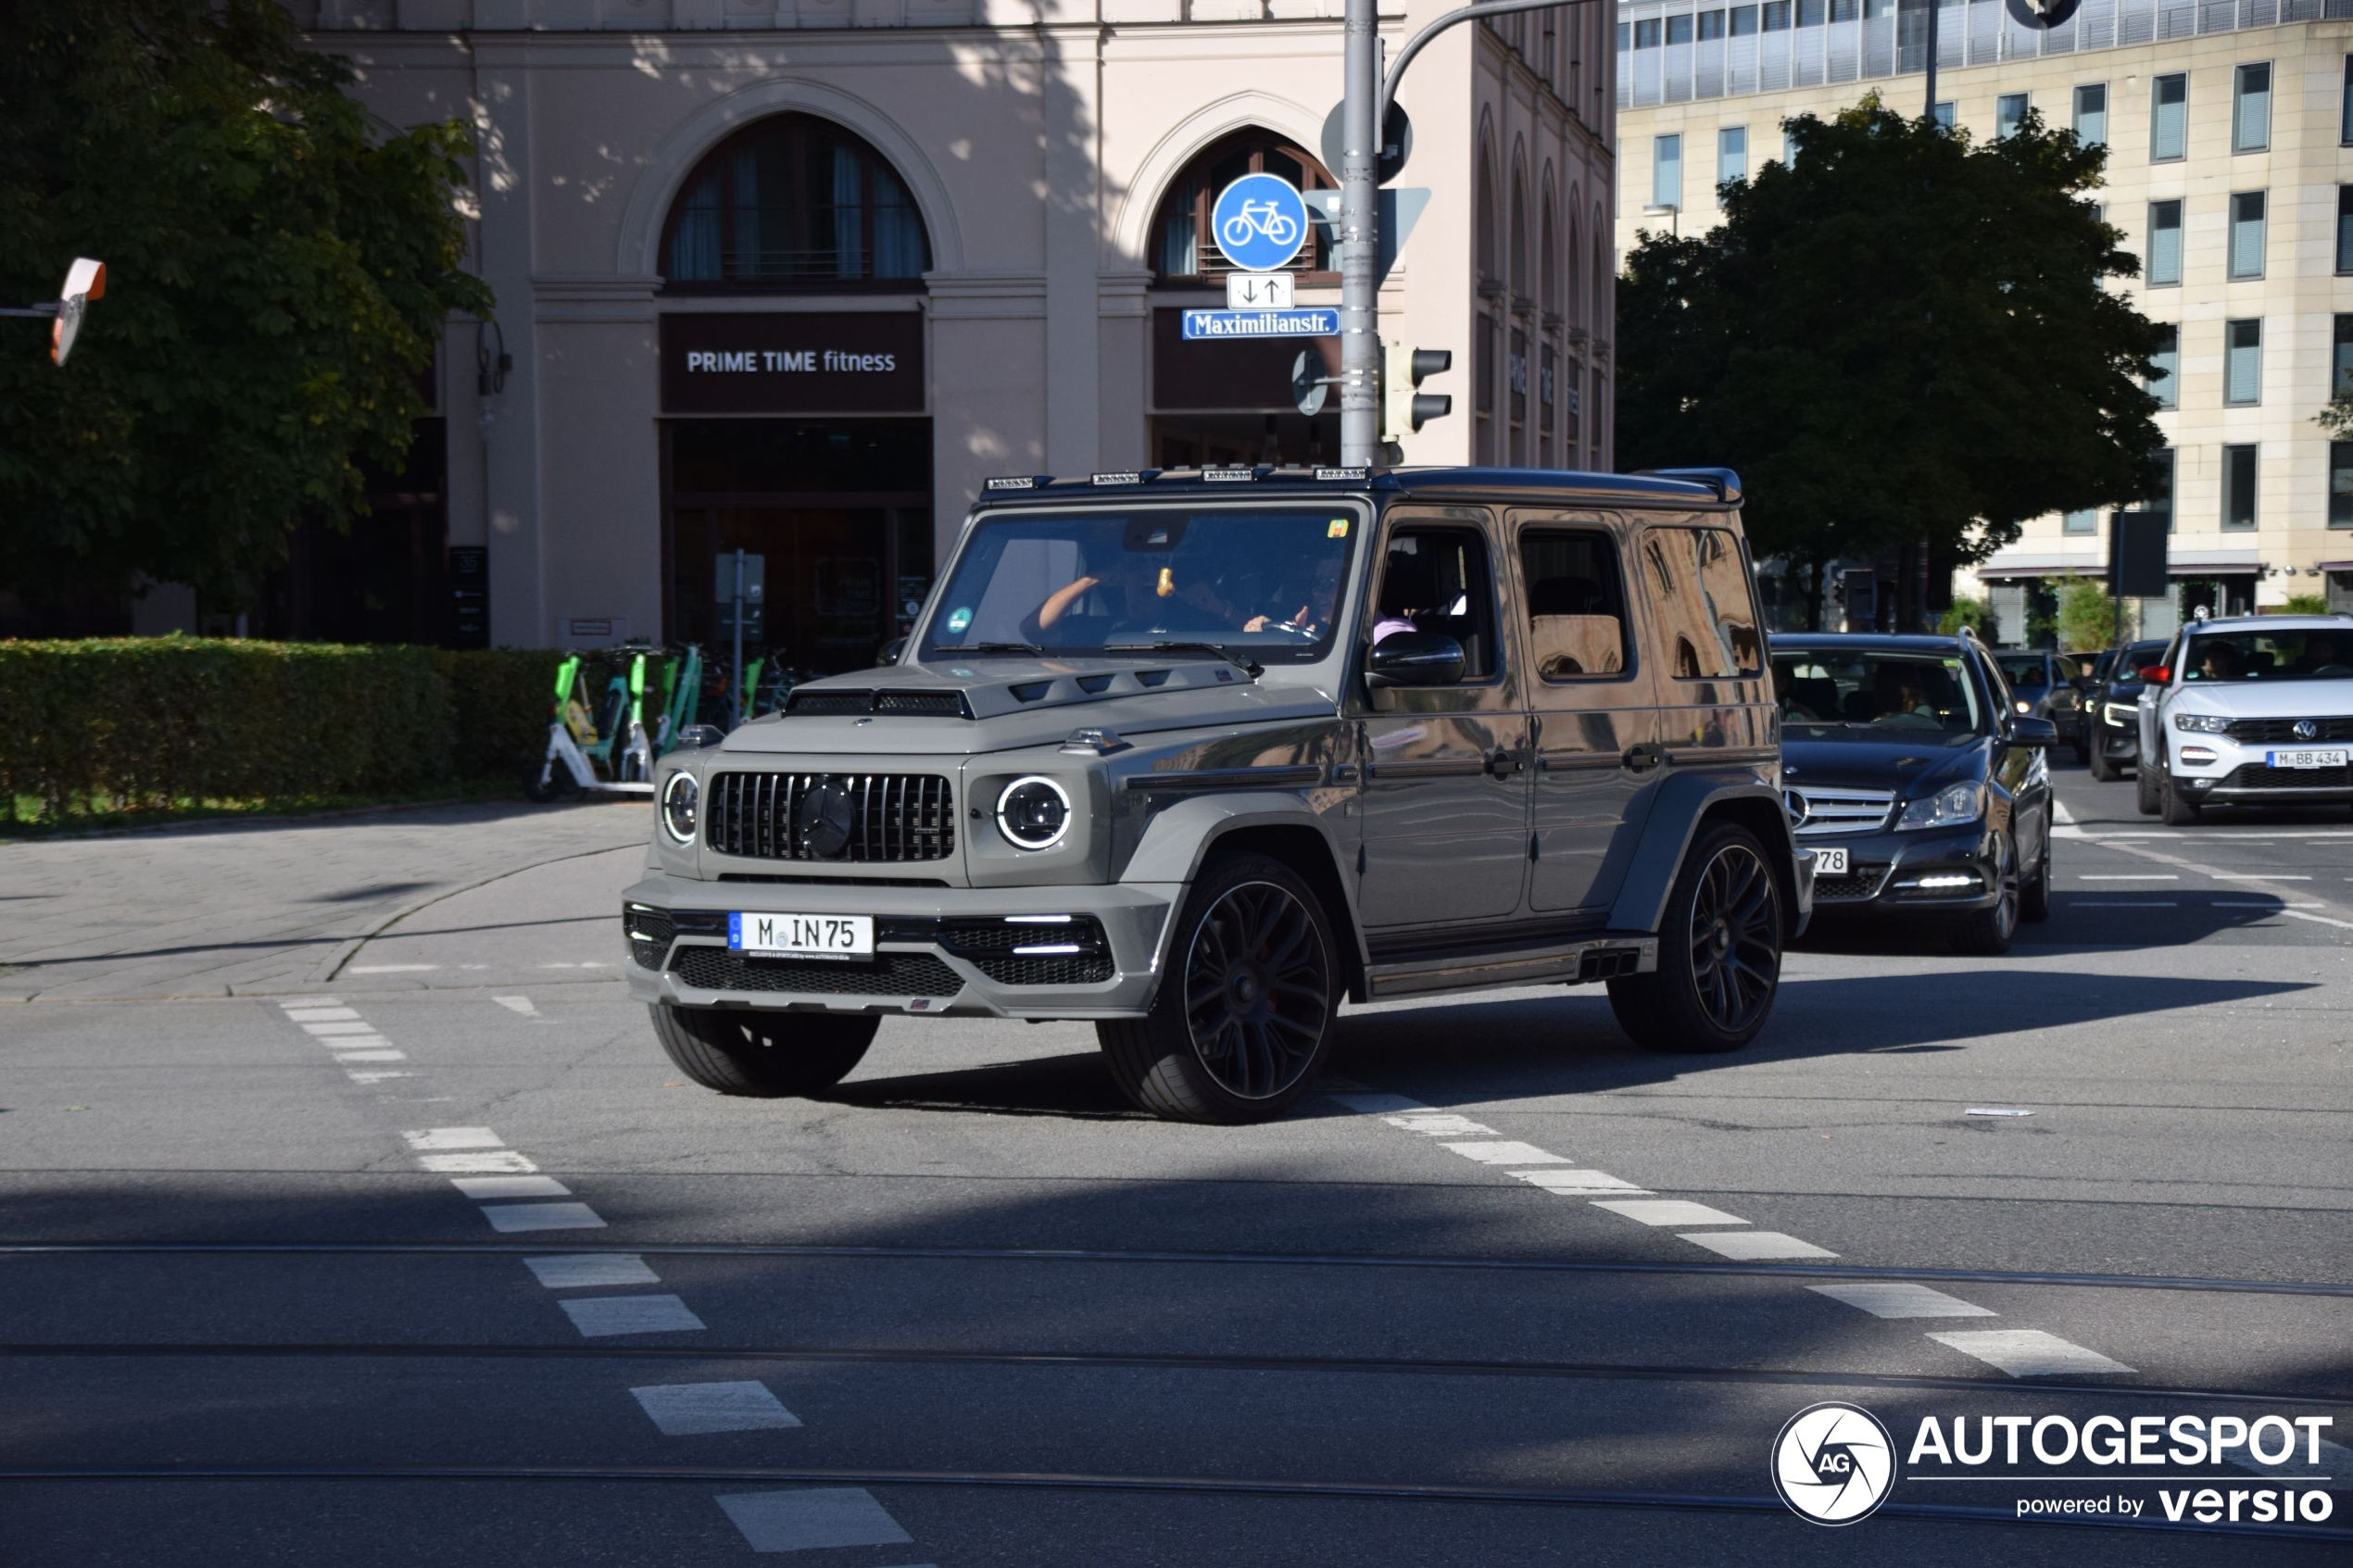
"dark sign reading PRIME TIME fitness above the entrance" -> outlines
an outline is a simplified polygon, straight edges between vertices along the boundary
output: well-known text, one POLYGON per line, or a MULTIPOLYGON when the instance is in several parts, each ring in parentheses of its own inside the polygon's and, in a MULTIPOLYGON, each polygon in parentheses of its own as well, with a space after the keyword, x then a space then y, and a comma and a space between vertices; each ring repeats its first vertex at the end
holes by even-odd
POLYGON ((922 414, 922 315, 673 313, 664 414, 922 414))

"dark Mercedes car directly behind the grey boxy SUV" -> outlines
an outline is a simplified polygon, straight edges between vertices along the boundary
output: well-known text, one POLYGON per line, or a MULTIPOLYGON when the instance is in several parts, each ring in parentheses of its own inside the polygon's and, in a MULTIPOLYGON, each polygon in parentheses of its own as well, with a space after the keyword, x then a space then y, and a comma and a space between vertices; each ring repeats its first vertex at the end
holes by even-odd
POLYGON ((2052 893, 2049 719, 1974 635, 1772 639, 1781 780, 1814 910, 1941 924, 2000 954, 2052 893))

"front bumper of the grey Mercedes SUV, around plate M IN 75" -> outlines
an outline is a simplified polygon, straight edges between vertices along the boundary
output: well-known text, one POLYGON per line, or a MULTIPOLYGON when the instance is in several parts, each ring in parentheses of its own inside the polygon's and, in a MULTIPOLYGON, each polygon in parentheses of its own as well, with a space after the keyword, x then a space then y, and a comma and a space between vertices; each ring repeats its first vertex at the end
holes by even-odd
POLYGON ((631 997, 671 1006, 962 1018, 1141 1018, 1181 884, 946 889, 694 882, 621 896, 631 997), (727 914, 871 914, 871 961, 746 959, 727 914), (1038 917, 1068 917, 1038 924, 1038 917), (1078 947, 1078 952, 1021 952, 1078 947))

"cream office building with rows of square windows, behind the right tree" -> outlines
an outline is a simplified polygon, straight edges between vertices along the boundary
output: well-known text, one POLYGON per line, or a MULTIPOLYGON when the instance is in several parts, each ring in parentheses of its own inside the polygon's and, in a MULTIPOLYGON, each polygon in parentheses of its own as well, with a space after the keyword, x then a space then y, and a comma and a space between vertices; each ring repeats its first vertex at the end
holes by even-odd
MULTIPOLYGON (((1781 122, 1866 92, 1920 113, 1927 9, 1892 0, 1621 0, 1617 244, 1715 223, 1715 188, 1784 155, 1781 122)), ((1944 0, 1939 118, 2000 136, 2026 108, 2108 146, 2108 223, 2141 259, 2113 287, 2174 334, 2153 383, 2172 447, 2172 599, 2353 609, 2353 444, 2313 414, 2353 376, 2353 0, 2085 0, 2052 31, 1944 0)), ((2120 503, 2132 498, 2118 496, 2120 503)), ((2038 583, 2101 576, 2111 512, 2035 517, 1962 571, 2021 639, 2038 583)))

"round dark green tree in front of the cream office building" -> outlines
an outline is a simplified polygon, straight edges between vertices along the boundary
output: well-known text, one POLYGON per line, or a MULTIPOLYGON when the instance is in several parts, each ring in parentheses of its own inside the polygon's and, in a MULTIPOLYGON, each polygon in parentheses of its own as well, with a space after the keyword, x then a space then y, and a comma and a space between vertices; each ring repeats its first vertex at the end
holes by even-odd
MULTIPOLYGON (((1864 99, 1786 122, 1795 167, 1725 221, 1640 235, 1619 282, 1619 456, 1722 463, 1760 555, 1984 559, 2026 517, 2148 496, 2158 329, 2085 197, 2106 148, 2040 118, 1991 146, 1864 99)), ((1906 581, 1911 574, 1904 574, 1906 581)))

